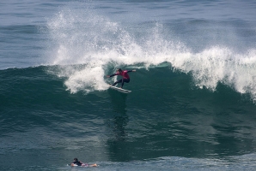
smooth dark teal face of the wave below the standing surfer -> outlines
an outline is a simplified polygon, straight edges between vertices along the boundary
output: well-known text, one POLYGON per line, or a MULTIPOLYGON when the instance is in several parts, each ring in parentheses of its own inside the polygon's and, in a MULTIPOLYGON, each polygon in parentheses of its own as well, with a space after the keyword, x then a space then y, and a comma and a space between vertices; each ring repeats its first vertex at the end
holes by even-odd
POLYGON ((97 157, 112 161, 232 156, 255 150, 255 105, 249 95, 227 85, 218 84, 216 91, 198 89, 192 75, 152 68, 130 74, 128 95, 111 89, 70 94, 64 78, 48 73, 56 68, 0 72, 1 154, 53 150, 56 142, 63 150, 99 148, 110 158, 97 157), (5 144, 12 137, 19 141, 5 144))

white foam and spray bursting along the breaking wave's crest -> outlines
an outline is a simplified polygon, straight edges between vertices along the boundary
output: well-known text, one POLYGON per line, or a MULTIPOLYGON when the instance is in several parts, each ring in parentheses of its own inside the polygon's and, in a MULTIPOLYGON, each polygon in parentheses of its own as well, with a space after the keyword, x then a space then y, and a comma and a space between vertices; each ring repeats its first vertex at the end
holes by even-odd
POLYGON ((52 64, 74 65, 61 71, 72 93, 106 90, 104 75, 113 72, 108 65, 118 68, 143 63, 148 68, 170 62, 175 69, 191 73, 200 88, 214 91, 222 82, 256 99, 256 50, 236 54, 229 48, 212 46, 193 53, 180 41, 165 38, 159 23, 137 37, 93 10, 64 9, 48 27, 54 43, 52 64), (76 64, 83 67, 76 68, 76 64))

